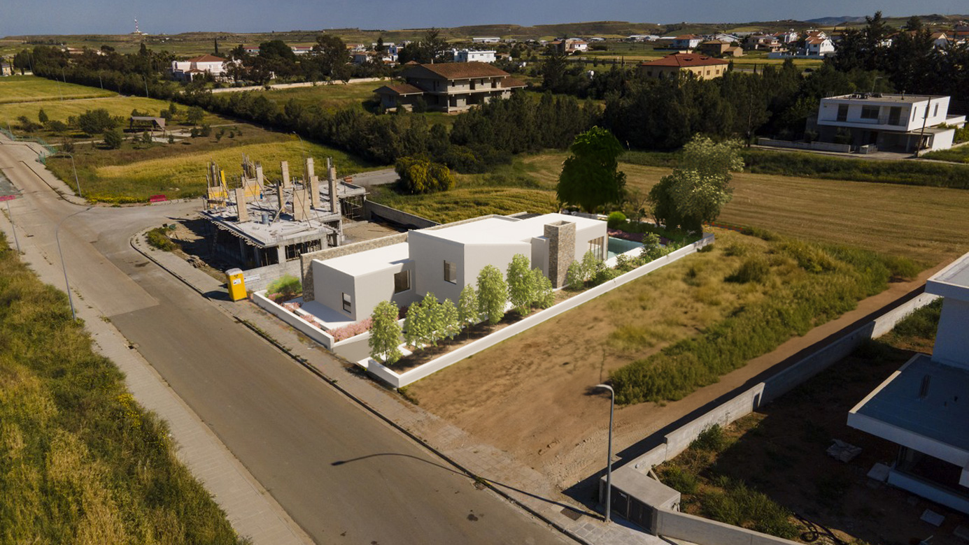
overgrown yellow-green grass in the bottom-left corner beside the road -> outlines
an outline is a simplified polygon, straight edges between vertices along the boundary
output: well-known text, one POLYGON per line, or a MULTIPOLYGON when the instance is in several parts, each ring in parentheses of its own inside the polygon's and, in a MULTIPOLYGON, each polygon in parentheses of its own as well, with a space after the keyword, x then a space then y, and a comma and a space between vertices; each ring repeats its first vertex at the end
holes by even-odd
POLYGON ((241 543, 165 422, 2 235, 0 279, 0 541, 241 543))

